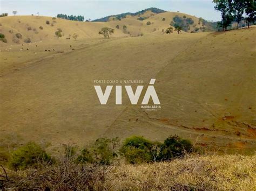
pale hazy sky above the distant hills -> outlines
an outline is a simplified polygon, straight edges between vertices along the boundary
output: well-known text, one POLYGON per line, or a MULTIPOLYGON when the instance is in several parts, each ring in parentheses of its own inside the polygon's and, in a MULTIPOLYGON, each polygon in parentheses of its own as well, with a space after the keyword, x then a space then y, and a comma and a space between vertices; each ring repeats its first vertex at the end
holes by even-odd
POLYGON ((206 20, 220 20, 220 13, 214 10, 212 0, 0 0, 0 13, 17 10, 17 15, 39 15, 55 17, 58 13, 66 15, 82 15, 85 19, 102 18, 124 12, 137 12, 156 7, 166 11, 179 11, 206 20))

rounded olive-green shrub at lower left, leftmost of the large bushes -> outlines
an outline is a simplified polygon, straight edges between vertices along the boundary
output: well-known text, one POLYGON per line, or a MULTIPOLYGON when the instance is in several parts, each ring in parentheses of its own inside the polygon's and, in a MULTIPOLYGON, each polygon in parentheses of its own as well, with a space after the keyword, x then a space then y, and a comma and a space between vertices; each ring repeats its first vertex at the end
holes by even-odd
POLYGON ((11 154, 9 165, 11 168, 18 170, 27 167, 36 168, 42 162, 52 164, 53 160, 41 146, 29 142, 28 144, 17 148, 17 150, 11 154))

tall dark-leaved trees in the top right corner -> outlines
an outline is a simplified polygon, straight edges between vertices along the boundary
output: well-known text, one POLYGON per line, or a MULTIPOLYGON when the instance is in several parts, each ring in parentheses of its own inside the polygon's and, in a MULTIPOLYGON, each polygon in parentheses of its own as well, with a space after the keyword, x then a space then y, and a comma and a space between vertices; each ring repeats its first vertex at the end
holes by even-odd
POLYGON ((256 2, 254 0, 213 0, 215 10, 221 12, 221 22, 218 27, 227 30, 232 22, 239 23, 244 20, 249 28, 256 20, 256 2), (245 16, 244 16, 245 14, 245 16))

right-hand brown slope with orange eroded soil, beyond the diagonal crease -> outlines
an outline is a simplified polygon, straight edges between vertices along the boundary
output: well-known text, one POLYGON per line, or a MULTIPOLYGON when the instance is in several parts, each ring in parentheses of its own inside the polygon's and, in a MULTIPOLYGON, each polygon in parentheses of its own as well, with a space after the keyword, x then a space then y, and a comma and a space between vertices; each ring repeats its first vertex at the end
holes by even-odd
POLYGON ((151 139, 158 135, 164 140, 166 134, 176 134, 204 147, 253 152, 254 35, 255 29, 250 29, 194 39, 155 75, 162 108, 149 112, 126 108, 105 135, 146 135, 151 139))

